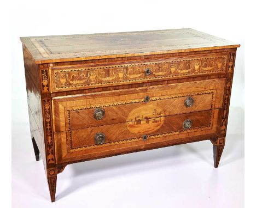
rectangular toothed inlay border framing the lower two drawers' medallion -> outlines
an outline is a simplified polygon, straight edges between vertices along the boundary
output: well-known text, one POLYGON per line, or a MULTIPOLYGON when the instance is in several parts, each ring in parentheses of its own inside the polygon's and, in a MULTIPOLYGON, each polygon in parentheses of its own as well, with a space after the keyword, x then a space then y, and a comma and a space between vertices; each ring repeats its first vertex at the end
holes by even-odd
MULTIPOLYGON (((156 96, 156 97, 150 97, 149 101, 175 99, 175 98, 178 98, 178 97, 203 95, 203 94, 212 94, 211 108, 213 108, 214 107, 214 102, 215 102, 215 97, 216 97, 216 90, 205 90, 205 91, 195 92, 193 94, 187 93, 187 94, 179 94, 179 95, 156 96)), ((116 142, 108 142, 108 143, 104 143, 102 145, 89 145, 89 146, 82 146, 82 147, 78 147, 78 148, 72 148, 72 138, 71 138, 70 112, 79 111, 79 110, 83 110, 83 109, 91 109, 91 108, 107 107, 107 106, 118 106, 118 105, 125 105, 125 104, 130 104, 130 103, 139 103, 139 102, 144 102, 144 98, 143 99, 131 100, 131 101, 103 103, 103 104, 98 104, 98 105, 86 105, 86 106, 73 107, 73 108, 66 109, 66 118, 67 118, 66 119, 66 127, 67 127, 66 141, 67 141, 67 144, 68 144, 68 149, 70 151, 78 151, 78 150, 83 150, 83 149, 100 148, 102 146, 107 146, 107 145, 123 144, 123 143, 129 143, 129 142, 135 142, 135 141, 138 141, 138 140, 142 140, 142 137, 138 137, 138 138, 132 138, 132 139, 119 140, 119 141, 116 141, 116 142)), ((212 118, 212 111, 211 111, 209 126, 202 126, 202 127, 192 128, 192 129, 189 129, 189 130, 181 130, 181 131, 174 131, 174 132, 167 132, 167 133, 149 135, 148 139, 164 137, 164 136, 169 136, 169 135, 183 133, 183 132, 190 132, 191 130, 194 131, 194 130, 199 130, 199 129, 200 130, 209 129, 211 124, 212 124, 212 119, 213 118, 212 118)))

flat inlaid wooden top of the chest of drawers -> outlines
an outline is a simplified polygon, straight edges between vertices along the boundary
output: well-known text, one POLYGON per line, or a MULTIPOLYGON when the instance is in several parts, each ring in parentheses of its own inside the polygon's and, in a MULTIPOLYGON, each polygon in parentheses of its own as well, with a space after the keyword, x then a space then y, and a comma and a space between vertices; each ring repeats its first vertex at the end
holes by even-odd
POLYGON ((34 36, 20 39, 38 64, 240 47, 194 29, 34 36))

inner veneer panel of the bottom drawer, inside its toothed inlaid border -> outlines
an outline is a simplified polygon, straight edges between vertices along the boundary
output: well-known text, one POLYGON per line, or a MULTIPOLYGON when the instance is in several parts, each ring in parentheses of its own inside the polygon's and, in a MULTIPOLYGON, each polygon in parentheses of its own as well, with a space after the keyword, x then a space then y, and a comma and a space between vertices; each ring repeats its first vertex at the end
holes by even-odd
MULTIPOLYGON (((86 129, 69 131, 67 140, 72 150, 77 148, 89 149, 97 148, 94 137, 97 133, 104 133, 106 137, 105 145, 110 145, 119 141, 127 141, 136 137, 147 135, 148 139, 159 137, 162 134, 183 131, 183 123, 186 120, 192 121, 190 130, 209 129, 211 127, 211 110, 186 113, 179 115, 170 115, 168 117, 159 117, 147 121, 127 122, 112 125, 96 126, 86 129), (91 146, 92 145, 92 146, 91 146)), ((137 138, 141 139, 141 138, 137 138)))

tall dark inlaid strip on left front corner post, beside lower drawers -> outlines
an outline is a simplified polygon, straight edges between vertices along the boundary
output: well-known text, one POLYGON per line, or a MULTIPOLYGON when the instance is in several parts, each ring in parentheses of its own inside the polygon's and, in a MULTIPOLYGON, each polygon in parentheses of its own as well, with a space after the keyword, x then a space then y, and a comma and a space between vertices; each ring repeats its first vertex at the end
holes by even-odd
POLYGON ((51 127, 51 99, 43 99, 44 128, 46 136, 47 162, 55 163, 53 129, 51 127))

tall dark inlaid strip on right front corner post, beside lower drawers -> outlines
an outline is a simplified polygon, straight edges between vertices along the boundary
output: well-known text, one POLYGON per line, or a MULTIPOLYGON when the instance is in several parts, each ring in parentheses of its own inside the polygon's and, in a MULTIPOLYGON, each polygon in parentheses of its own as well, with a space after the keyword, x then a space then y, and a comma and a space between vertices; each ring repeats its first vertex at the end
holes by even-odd
POLYGON ((228 113, 229 113, 229 100, 231 94, 231 84, 232 78, 226 79, 225 92, 224 92, 224 105, 222 112, 222 127, 220 127, 220 133, 226 132, 226 125, 228 123, 228 113))

